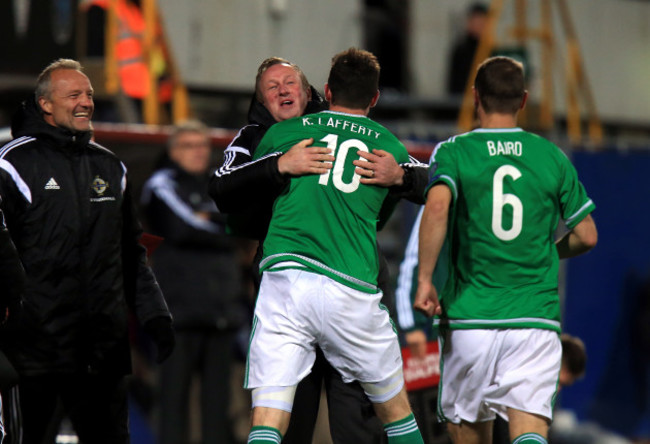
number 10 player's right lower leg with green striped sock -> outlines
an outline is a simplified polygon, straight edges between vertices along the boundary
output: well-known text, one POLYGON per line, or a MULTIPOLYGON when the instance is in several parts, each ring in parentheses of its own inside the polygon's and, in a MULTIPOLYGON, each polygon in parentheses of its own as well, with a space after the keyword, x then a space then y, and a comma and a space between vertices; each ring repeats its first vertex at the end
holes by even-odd
POLYGON ((403 387, 393 398, 373 405, 377 416, 384 423, 389 444, 424 443, 403 387))

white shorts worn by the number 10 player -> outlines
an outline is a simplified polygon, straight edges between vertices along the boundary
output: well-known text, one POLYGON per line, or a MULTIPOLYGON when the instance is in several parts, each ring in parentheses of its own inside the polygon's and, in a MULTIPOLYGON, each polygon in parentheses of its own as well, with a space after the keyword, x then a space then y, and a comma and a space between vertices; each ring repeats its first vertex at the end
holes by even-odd
MULTIPOLYGON (((381 296, 308 271, 264 272, 244 387, 297 384, 311 371, 317 344, 345 382, 401 376, 397 334, 381 296)), ((401 386, 403 378, 397 392, 401 386)))

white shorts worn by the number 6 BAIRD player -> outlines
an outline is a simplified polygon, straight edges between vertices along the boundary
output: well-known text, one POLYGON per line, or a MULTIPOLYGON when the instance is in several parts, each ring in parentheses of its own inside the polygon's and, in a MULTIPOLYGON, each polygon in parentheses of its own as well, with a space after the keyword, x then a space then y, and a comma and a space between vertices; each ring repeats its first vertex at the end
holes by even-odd
POLYGON ((508 420, 508 407, 552 419, 562 362, 556 332, 450 330, 439 341, 440 420, 508 420))

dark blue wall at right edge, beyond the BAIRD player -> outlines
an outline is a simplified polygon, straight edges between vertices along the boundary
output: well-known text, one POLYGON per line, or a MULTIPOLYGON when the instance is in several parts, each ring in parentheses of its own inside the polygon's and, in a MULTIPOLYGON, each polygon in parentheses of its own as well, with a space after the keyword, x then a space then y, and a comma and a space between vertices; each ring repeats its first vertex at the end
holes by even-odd
POLYGON ((650 438, 650 151, 581 152, 573 162, 599 231, 568 261, 564 330, 587 347, 584 380, 560 404, 579 419, 650 438))

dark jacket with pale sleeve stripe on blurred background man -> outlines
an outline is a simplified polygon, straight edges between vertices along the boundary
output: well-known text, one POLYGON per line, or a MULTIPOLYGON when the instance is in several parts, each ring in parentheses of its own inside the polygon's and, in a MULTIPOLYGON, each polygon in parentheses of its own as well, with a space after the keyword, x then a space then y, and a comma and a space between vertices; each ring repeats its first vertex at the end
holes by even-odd
POLYGON ((225 218, 207 194, 208 178, 170 161, 142 191, 148 226, 164 238, 151 259, 177 331, 234 329, 248 321, 235 240, 226 235, 225 218))

